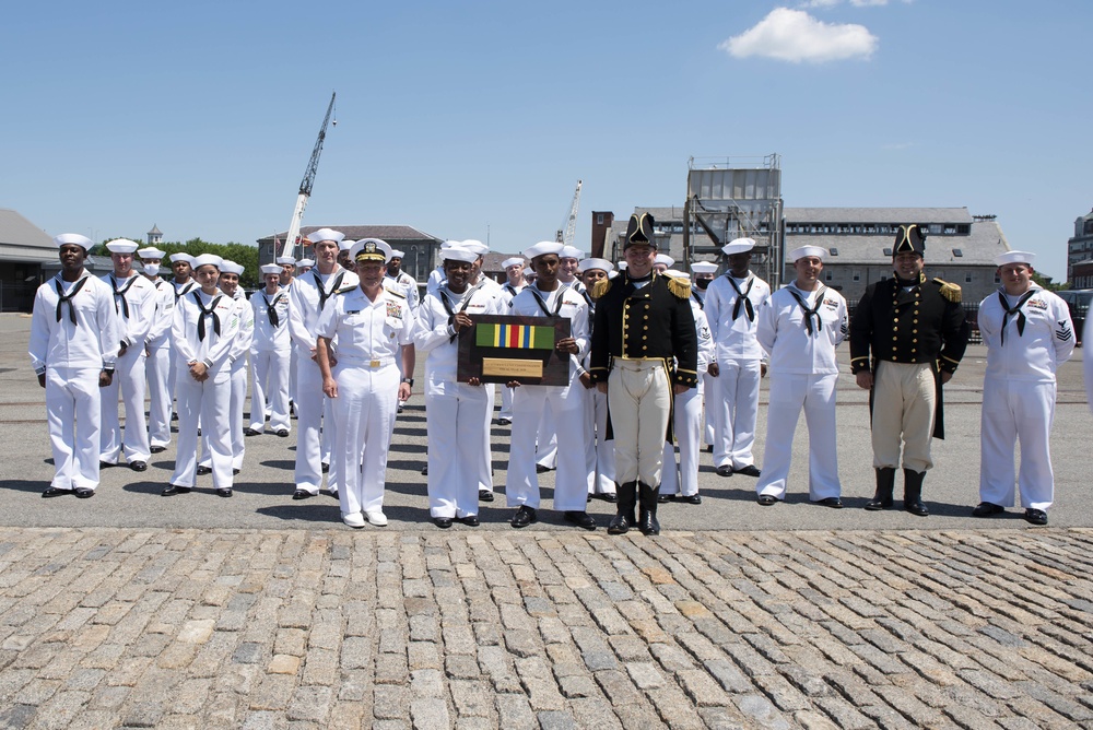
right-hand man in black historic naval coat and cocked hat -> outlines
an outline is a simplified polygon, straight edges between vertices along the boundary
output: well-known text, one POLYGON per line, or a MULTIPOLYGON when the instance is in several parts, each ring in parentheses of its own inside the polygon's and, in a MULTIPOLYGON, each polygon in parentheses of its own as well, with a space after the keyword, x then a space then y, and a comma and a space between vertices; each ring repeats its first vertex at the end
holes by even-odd
POLYGON ((941 386, 967 348, 960 286, 922 273, 926 232, 902 225, 892 249, 895 275, 866 287, 850 321, 850 370, 870 390, 877 493, 866 509, 892 506, 903 439, 903 507, 929 515, 922 481, 933 467, 931 437, 944 438, 941 386), (870 360, 870 355, 872 356, 870 360))

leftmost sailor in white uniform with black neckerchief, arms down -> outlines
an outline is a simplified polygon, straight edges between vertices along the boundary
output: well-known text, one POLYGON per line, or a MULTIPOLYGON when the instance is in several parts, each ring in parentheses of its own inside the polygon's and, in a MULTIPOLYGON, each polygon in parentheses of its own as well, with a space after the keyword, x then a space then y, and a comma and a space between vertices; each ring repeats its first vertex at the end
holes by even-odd
POLYGON ((83 268, 92 240, 64 233, 54 243, 61 270, 34 295, 28 348, 46 389, 54 452, 54 479, 42 496, 86 498, 98 487, 102 388, 114 376, 121 322, 110 287, 83 268))

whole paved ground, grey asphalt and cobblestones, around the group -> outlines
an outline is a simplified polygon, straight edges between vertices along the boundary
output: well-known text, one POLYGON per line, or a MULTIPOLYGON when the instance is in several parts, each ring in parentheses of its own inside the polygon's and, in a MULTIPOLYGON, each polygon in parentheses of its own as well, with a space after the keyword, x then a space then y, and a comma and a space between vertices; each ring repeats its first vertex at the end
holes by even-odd
MULTIPOLYGON (((290 499, 294 437, 247 439, 231 501, 208 476, 160 497, 171 449, 143 474, 104 471, 93 499, 42 499, 28 321, 0 316, 0 727, 1093 728, 1080 350, 1060 373, 1047 528, 968 516, 973 345, 945 391, 928 518, 860 509, 868 413, 844 367, 846 509, 808 503, 801 424, 774 507, 704 455, 702 506, 662 505, 659 538, 609 538, 602 502, 595 532, 545 509, 516 531, 502 495, 482 527, 442 531, 419 392, 392 447, 390 525, 353 531, 336 501, 290 499)), ((500 492, 506 440, 495 428, 500 492)))

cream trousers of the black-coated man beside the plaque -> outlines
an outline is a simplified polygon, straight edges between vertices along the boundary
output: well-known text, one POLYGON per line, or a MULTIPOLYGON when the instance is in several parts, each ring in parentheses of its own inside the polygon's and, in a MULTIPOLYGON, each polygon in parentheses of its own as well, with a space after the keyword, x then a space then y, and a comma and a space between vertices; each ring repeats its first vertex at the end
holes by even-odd
POLYGON ((608 407, 620 484, 660 486, 671 403, 663 361, 615 358, 608 376, 608 407))

